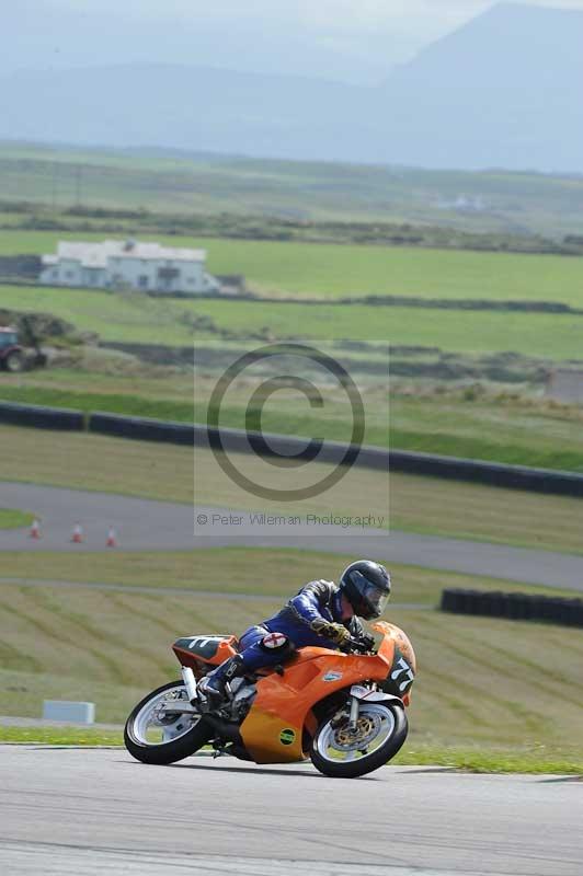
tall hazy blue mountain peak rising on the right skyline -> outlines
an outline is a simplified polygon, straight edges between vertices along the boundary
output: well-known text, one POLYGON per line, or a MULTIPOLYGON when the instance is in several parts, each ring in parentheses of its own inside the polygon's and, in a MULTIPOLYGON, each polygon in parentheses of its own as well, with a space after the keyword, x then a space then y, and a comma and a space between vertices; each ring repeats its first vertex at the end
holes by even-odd
POLYGON ((392 149, 436 166, 583 171, 583 12, 502 3, 393 71, 392 149))

